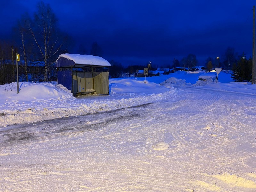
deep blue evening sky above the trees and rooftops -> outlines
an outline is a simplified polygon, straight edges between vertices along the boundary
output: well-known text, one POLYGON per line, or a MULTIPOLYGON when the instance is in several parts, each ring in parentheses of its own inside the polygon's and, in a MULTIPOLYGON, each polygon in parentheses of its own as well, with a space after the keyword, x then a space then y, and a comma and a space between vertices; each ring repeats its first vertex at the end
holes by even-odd
MULTIPOLYGON (((97 42, 107 60, 124 65, 172 64, 189 53, 199 65, 210 57, 222 61, 228 46, 252 55, 252 0, 44 0, 56 14, 60 28, 89 54, 97 42)), ((0 7, 0 38, 24 12, 36 11, 37 1, 5 1, 0 7)), ((74 53, 75 49, 73 50, 74 53)))

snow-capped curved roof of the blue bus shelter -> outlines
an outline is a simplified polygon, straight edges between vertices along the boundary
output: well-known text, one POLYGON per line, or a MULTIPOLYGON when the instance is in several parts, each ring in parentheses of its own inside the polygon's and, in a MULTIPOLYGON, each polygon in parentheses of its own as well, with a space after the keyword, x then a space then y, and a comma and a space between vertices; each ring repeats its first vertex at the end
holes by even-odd
POLYGON ((111 65, 102 57, 65 53, 58 57, 55 67, 111 67, 111 65))

